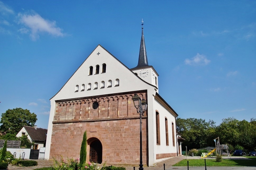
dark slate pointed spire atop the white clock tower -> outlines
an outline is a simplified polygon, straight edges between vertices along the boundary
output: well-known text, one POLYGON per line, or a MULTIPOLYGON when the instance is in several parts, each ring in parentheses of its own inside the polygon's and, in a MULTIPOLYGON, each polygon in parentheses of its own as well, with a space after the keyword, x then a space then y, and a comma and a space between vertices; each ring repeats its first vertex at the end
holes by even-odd
POLYGON ((148 57, 147 57, 147 51, 146 51, 146 45, 144 41, 144 34, 143 34, 143 19, 142 19, 142 35, 141 35, 141 42, 140 42, 140 54, 139 54, 139 62, 136 68, 148 66, 148 57))

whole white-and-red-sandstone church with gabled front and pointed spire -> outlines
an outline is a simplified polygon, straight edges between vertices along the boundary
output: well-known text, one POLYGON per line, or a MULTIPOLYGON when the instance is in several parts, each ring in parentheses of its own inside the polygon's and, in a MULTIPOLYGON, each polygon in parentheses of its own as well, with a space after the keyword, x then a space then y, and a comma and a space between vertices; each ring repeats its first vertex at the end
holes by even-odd
POLYGON ((181 155, 178 114, 160 96, 158 74, 148 65, 143 35, 138 65, 127 68, 101 45, 50 99, 45 159, 79 158, 87 131, 87 162, 139 165, 140 115, 136 93, 148 108, 142 116, 142 160, 152 166, 181 155))

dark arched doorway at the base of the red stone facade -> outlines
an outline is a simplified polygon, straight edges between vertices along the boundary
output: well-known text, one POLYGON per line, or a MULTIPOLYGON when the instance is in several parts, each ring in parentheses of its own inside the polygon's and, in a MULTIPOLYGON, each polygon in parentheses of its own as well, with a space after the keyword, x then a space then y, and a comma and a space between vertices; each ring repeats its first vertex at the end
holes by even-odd
POLYGON ((102 163, 102 144, 97 139, 90 143, 89 161, 94 163, 102 163))

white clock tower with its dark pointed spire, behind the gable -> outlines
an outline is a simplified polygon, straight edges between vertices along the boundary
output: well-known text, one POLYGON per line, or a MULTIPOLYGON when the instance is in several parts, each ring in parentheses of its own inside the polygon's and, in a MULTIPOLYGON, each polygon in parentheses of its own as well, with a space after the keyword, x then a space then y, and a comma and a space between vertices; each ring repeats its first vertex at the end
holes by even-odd
POLYGON ((153 68, 153 66, 148 65, 148 57, 146 51, 146 45, 144 40, 144 33, 143 33, 143 19, 142 19, 142 35, 141 35, 141 42, 140 42, 140 53, 139 53, 139 61, 138 65, 131 70, 142 80, 147 83, 150 83, 157 87, 158 92, 158 74, 153 68))

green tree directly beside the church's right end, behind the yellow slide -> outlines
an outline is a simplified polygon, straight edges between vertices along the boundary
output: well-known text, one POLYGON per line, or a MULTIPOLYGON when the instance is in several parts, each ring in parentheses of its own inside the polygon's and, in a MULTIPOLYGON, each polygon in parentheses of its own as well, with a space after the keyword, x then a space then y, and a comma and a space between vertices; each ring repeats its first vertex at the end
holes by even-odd
POLYGON ((203 148, 206 146, 214 146, 213 139, 215 138, 215 122, 204 119, 181 119, 176 120, 177 131, 182 134, 185 141, 182 143, 182 148, 186 146, 189 149, 203 148))

